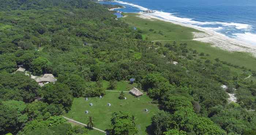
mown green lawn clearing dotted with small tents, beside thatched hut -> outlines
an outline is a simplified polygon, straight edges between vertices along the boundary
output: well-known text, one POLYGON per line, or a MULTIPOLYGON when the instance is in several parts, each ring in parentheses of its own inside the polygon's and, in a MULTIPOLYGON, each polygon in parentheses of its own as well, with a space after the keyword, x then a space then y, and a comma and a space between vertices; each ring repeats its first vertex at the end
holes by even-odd
MULTIPOLYGON (((147 95, 135 98, 129 93, 125 93, 126 100, 118 99, 119 92, 106 92, 103 99, 98 97, 89 98, 89 101, 85 101, 83 97, 75 98, 71 107, 71 110, 65 115, 70 119, 77 120, 82 123, 88 123, 88 117, 94 118, 94 124, 96 128, 106 130, 109 127, 111 115, 117 111, 128 111, 132 115, 135 115, 136 126, 139 129, 139 135, 146 135, 146 127, 151 124, 151 116, 159 109, 157 104, 152 104, 147 95), (93 106, 89 104, 93 103, 93 106), (108 107, 108 103, 111 104, 108 107), (144 109, 149 109, 148 113, 144 112, 144 109), (85 111, 90 111, 86 114, 85 111)), ((90 131, 93 135, 102 135, 98 131, 90 131)))

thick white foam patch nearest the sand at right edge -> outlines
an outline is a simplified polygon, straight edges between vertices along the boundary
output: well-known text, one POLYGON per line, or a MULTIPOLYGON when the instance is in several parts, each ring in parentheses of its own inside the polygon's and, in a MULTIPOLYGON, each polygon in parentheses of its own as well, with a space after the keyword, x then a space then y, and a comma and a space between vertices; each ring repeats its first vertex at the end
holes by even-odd
POLYGON ((247 43, 251 43, 252 45, 256 45, 256 34, 252 34, 250 32, 245 32, 244 34, 242 33, 237 33, 233 34, 236 35, 236 39, 242 40, 247 43))

